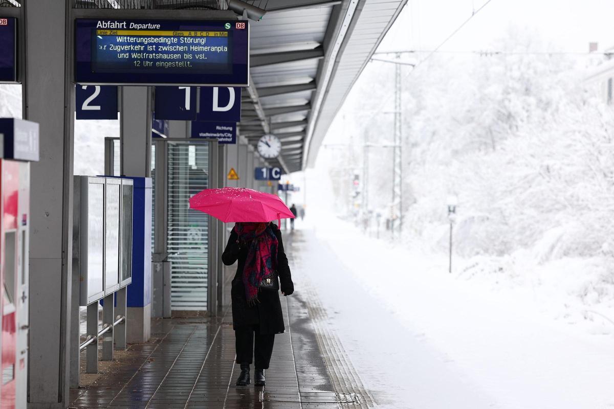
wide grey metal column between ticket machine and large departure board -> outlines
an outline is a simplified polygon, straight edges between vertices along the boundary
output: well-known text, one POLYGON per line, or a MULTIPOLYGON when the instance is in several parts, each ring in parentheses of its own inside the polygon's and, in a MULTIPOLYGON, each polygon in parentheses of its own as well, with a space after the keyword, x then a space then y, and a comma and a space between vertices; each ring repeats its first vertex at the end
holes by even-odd
POLYGON ((72 1, 28 0, 21 8, 23 117, 41 125, 41 160, 31 164, 28 408, 65 408, 72 299, 72 1))

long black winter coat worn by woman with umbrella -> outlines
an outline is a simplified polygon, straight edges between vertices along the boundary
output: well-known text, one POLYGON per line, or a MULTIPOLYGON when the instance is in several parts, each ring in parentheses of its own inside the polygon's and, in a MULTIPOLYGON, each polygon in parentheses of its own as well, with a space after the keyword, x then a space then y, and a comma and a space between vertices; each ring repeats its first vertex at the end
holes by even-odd
MULTIPOLYGON (((288 266, 288 259, 284 253, 284 243, 281 240, 281 232, 278 227, 271 223, 271 228, 277 236, 278 245, 278 274, 279 288, 289 296, 294 292, 292 275, 288 266)), ((260 334, 281 334, 286 331, 284 327, 284 317, 281 312, 279 302, 279 291, 258 291, 258 300, 254 306, 247 305, 245 287, 243 285, 243 266, 247 258, 247 246, 238 242, 238 235, 235 231, 231 232, 226 248, 222 254, 222 262, 231 266, 235 261, 239 261, 235 278, 232 280, 230 299, 232 301, 232 321, 233 328, 238 329, 243 326, 260 325, 260 334)))

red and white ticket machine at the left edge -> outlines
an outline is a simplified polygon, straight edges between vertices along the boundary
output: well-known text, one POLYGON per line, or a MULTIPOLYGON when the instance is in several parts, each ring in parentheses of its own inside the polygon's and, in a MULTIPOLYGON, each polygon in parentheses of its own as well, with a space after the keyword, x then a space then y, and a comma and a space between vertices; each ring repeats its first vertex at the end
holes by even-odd
POLYGON ((0 408, 25 408, 28 393, 28 243, 30 161, 39 157, 38 124, 0 118, 0 408))

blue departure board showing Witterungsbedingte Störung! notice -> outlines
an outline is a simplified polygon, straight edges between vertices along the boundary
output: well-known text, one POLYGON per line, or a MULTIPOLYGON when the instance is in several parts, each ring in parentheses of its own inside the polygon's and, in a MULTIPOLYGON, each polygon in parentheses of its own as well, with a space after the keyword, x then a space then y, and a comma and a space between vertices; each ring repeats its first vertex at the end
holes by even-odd
POLYGON ((247 21, 75 21, 75 82, 247 86, 247 21))

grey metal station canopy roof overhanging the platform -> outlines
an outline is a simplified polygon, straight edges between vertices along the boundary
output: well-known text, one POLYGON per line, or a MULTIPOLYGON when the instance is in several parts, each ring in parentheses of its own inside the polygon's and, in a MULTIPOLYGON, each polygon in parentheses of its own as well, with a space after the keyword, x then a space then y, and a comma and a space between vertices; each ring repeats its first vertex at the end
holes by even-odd
MULTIPOLYGON (((279 137, 282 153, 269 162, 286 172, 313 166, 330 123, 407 0, 244 2, 266 14, 250 22, 251 86, 243 93, 239 135, 254 146, 263 134, 279 137)), ((74 7, 220 10, 227 3, 74 0, 74 7)))

